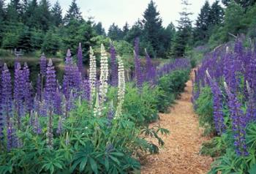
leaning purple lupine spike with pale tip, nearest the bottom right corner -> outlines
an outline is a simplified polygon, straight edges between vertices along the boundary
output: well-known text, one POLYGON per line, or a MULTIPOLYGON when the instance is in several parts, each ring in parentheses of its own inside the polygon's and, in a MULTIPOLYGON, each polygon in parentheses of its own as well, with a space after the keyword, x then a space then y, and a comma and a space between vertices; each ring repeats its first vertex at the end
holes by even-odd
POLYGON ((228 102, 227 105, 230 110, 230 118, 232 120, 232 129, 234 132, 236 154, 238 156, 246 156, 246 116, 244 116, 243 110, 241 110, 241 103, 238 101, 236 96, 230 91, 225 83, 225 91, 227 93, 228 102))

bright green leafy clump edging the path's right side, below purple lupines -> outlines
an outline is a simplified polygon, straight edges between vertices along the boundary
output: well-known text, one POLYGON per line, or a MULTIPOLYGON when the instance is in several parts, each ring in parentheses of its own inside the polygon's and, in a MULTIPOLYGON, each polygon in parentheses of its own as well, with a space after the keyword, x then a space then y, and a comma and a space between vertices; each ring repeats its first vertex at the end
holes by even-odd
POLYGON ((196 105, 196 113, 199 116, 199 124, 205 129, 204 135, 215 134, 213 118, 213 96, 210 87, 206 86, 202 88, 200 96, 196 101, 196 105))

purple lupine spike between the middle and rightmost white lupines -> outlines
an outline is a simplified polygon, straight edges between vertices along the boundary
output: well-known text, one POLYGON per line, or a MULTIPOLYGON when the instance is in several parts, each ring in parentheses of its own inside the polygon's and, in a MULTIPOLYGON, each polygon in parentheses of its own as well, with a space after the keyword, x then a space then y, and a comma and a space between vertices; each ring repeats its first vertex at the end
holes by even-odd
POLYGON ((117 86, 118 84, 118 67, 116 61, 116 49, 113 44, 110 44, 110 84, 111 86, 117 86))

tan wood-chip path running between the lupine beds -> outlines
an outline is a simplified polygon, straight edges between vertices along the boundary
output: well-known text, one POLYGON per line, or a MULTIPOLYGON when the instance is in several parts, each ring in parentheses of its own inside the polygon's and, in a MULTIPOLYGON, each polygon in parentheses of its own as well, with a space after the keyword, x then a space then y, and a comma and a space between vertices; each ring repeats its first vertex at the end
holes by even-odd
POLYGON ((170 135, 163 137, 165 146, 159 154, 148 156, 142 174, 197 174, 209 170, 213 159, 199 154, 201 144, 208 138, 202 137, 191 96, 192 81, 189 80, 170 113, 160 114, 159 124, 169 129, 170 135))

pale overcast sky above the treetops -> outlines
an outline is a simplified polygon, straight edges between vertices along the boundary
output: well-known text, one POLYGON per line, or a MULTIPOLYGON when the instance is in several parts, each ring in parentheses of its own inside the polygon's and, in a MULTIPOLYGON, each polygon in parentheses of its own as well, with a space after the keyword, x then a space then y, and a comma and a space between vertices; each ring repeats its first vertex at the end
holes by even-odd
MULTIPOLYGON (((72 0, 59 0, 63 13, 65 13, 72 0)), ((101 21, 105 29, 108 29, 112 23, 116 23, 119 27, 123 27, 128 22, 132 26, 138 18, 142 18, 143 12, 146 10, 150 0, 77 0, 83 18, 89 16, 94 17, 96 22, 101 21)), ((181 12, 181 0, 154 0, 157 4, 157 10, 162 17, 163 26, 167 26, 170 22, 176 25, 176 20, 181 12)), ((197 18, 200 8, 206 0, 189 0, 192 4, 189 9, 194 14, 192 20, 197 18)), ((215 0, 208 0, 212 4, 215 0)), ((56 0, 50 0, 54 4, 56 0)))

